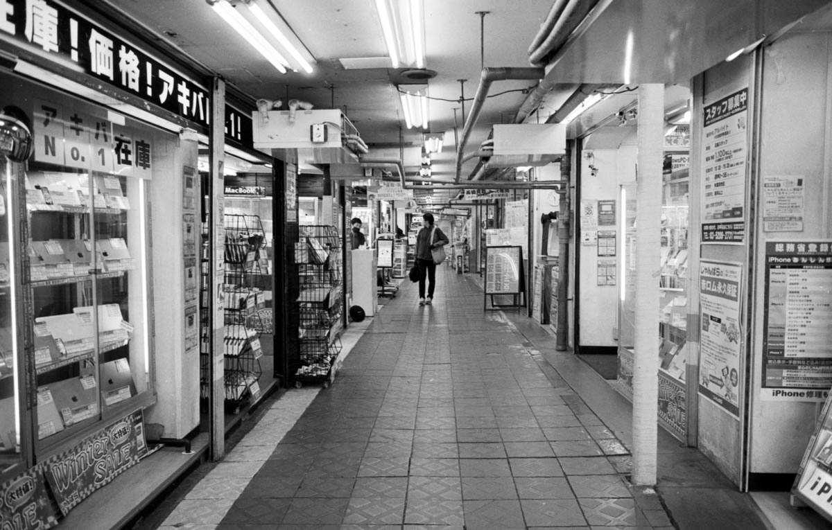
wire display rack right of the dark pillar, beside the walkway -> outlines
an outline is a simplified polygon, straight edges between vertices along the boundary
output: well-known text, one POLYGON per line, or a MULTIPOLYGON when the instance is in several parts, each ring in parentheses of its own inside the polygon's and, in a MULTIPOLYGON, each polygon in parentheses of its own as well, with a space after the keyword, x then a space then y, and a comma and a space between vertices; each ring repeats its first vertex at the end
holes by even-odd
POLYGON ((341 239, 332 226, 300 227, 295 244, 300 294, 298 296, 299 356, 295 386, 320 382, 324 388, 334 380, 335 361, 341 352, 344 278, 341 239))

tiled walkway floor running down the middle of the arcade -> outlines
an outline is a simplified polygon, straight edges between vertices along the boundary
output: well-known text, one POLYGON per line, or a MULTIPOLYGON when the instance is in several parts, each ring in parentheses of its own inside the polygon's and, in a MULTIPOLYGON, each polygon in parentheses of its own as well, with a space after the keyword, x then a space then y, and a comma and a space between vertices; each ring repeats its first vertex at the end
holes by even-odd
POLYGON ((161 528, 672 528, 476 282, 437 276, 433 306, 403 284, 335 384, 276 401, 161 528))

